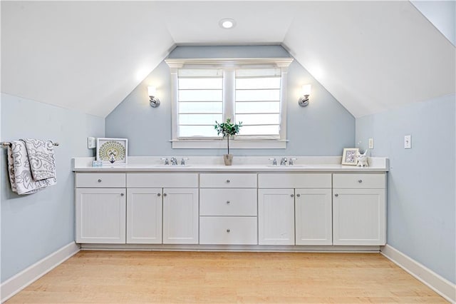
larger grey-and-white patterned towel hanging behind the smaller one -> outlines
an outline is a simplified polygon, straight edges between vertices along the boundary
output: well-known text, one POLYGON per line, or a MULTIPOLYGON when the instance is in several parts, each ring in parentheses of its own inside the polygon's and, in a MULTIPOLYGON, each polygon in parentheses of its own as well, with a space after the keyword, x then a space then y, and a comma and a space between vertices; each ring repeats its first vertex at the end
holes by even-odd
POLYGON ((57 182, 55 177, 41 181, 33 179, 24 141, 11 141, 8 148, 8 172, 11 190, 18 194, 36 193, 57 182))

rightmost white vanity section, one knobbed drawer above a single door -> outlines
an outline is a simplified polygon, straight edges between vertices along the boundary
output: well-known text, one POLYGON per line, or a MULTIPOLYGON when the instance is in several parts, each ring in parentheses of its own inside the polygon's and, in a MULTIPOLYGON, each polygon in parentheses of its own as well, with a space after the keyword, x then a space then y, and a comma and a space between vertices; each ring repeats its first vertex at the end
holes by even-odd
POLYGON ((385 173, 333 174, 333 244, 385 245, 385 173))

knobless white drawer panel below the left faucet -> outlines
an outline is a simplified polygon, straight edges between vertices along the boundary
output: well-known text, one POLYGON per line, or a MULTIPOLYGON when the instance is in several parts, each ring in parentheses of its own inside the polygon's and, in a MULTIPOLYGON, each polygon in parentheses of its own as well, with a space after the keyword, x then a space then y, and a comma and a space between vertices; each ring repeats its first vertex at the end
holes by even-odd
POLYGON ((197 188, 197 173, 127 173, 129 188, 197 188))

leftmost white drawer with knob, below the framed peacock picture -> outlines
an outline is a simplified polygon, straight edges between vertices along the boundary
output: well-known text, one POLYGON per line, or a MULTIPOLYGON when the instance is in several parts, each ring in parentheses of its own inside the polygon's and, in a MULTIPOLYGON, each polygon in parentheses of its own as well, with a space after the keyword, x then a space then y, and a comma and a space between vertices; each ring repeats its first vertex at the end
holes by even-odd
POLYGON ((125 173, 76 173, 77 188, 125 188, 125 173))

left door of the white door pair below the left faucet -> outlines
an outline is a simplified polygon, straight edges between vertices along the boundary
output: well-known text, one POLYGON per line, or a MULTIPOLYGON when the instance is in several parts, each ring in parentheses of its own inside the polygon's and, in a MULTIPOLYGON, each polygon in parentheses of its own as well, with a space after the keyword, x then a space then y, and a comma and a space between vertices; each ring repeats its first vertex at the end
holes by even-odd
POLYGON ((162 243, 162 188, 127 189, 127 243, 162 243))

